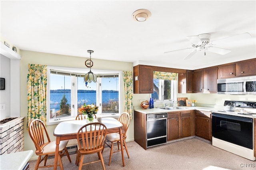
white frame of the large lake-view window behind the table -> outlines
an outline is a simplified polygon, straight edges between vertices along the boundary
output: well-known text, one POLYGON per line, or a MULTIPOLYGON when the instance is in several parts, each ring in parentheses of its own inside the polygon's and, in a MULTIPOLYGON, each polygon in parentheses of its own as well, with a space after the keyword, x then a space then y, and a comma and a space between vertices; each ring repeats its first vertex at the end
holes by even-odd
MULTIPOLYGON (((48 66, 47 68, 47 92, 46 92, 46 108, 49 108, 46 110, 46 123, 47 125, 56 125, 62 121, 68 121, 68 120, 74 120, 76 119, 76 115, 77 115, 77 78, 76 77, 72 77, 71 78, 71 83, 74 83, 74 86, 71 86, 71 98, 73 98, 73 103, 74 103, 74 107, 72 107, 73 103, 71 103, 71 117, 70 118, 66 118, 66 119, 60 119, 60 120, 56 120, 56 121, 50 121, 50 70, 61 70, 63 72, 76 72, 76 73, 87 73, 88 69, 84 69, 84 68, 70 68, 70 67, 59 67, 59 66, 48 66), (49 101, 49 102, 48 102, 49 101)), ((119 113, 97 113, 97 115, 100 115, 101 117, 114 117, 114 118, 118 118, 120 116, 120 113, 123 110, 123 103, 124 103, 124 98, 122 98, 122 94, 123 94, 123 88, 124 85, 122 83, 122 71, 119 70, 93 70, 94 74, 118 74, 118 79, 119 79, 119 92, 118 92, 118 99, 119 99, 119 113)), ((98 83, 97 83, 97 87, 96 87, 96 100, 98 102, 98 94, 99 94, 99 89, 102 86, 98 87, 98 83)), ((102 110, 102 103, 101 106, 99 106, 100 109, 102 110)))

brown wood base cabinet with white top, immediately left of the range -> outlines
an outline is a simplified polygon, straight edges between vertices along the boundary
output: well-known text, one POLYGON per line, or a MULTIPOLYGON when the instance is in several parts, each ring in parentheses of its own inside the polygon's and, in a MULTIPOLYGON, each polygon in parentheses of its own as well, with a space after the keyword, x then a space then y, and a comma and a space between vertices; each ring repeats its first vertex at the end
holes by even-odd
POLYGON ((211 112, 196 111, 196 136, 212 141, 211 112))

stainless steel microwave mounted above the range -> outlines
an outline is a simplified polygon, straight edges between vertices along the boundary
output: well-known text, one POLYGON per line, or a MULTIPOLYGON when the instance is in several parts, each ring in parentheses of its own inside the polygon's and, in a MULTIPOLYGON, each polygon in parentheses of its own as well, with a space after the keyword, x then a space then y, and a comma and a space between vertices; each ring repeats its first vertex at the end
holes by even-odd
POLYGON ((217 80, 218 94, 256 95, 256 76, 217 80))

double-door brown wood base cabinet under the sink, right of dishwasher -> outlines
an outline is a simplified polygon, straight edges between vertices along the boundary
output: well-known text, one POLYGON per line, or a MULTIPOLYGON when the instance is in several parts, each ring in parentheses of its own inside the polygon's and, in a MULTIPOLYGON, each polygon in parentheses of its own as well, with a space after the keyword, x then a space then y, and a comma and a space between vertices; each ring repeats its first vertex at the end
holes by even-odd
POLYGON ((191 111, 168 112, 167 141, 191 136, 191 111))

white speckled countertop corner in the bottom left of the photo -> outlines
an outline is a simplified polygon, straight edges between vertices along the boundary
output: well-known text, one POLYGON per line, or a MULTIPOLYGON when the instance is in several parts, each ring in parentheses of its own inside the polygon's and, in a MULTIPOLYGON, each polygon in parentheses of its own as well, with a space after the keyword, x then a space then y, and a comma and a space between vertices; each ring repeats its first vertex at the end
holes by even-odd
POLYGON ((22 170, 28 163, 33 150, 0 155, 0 170, 22 170))

